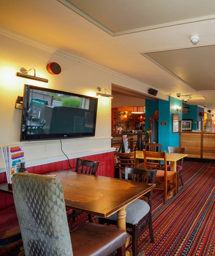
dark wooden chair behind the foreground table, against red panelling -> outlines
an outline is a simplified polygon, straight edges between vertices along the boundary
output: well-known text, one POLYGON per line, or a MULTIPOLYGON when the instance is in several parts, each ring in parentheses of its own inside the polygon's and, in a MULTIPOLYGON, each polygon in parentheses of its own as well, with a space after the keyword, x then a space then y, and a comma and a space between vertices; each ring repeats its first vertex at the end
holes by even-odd
MULTIPOLYGON (((99 164, 99 161, 94 162, 94 161, 90 161, 90 160, 84 160, 84 159, 77 158, 75 172, 95 175, 97 168, 98 168, 98 164, 99 164)), ((75 211, 75 210, 66 209, 66 214, 67 214, 67 217, 72 216, 72 221, 74 222, 75 216, 80 214, 80 212, 75 211)), ((92 222, 91 214, 88 214, 88 220, 89 220, 89 222, 92 222)))

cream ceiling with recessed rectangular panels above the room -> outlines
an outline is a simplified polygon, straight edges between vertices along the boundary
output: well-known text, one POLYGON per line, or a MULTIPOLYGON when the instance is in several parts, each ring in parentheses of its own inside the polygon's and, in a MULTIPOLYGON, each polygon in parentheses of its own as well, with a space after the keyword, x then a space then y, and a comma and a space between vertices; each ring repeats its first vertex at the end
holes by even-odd
POLYGON ((215 110, 214 0, 1 0, 0 26, 215 110))

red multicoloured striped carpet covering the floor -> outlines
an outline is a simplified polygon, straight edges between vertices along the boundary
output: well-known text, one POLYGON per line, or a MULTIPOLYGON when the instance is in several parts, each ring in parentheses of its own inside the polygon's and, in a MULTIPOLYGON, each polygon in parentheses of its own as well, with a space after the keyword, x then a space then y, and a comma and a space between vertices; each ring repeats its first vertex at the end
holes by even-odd
MULTIPOLYGON (((147 228, 138 240, 146 256, 215 255, 215 164, 184 162, 183 182, 184 186, 179 182, 178 194, 165 205, 162 193, 153 193, 154 243, 150 242, 147 228)), ((69 228, 87 220, 87 214, 81 213, 74 223, 68 220, 69 228)), ((93 222, 97 222, 95 216, 93 222)), ((131 248, 131 241, 127 248, 131 248)))

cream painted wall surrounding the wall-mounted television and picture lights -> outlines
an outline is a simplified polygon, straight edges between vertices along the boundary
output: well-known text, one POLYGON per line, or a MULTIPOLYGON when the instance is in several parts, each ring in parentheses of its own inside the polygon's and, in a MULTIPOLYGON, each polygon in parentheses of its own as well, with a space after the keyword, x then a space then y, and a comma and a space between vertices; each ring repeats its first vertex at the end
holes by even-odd
MULTIPOLYGON (((128 77, 6 29, 0 28, 0 42, 0 146, 20 144, 21 110, 15 109, 14 105, 16 97, 23 95, 24 83, 91 96, 96 95, 98 86, 105 87, 106 93, 111 94, 111 83, 142 92, 147 90, 145 85, 128 77), (59 75, 46 71, 46 64, 50 62, 61 66, 59 75), (21 67, 34 68, 36 76, 47 78, 48 83, 16 77, 15 73, 21 67)), ((112 151, 110 119, 111 99, 99 97, 95 137, 62 140, 64 153, 69 158, 75 158, 112 151)), ((66 160, 59 140, 21 144, 27 167, 66 160)), ((0 172, 3 171, 0 154, 0 172)))

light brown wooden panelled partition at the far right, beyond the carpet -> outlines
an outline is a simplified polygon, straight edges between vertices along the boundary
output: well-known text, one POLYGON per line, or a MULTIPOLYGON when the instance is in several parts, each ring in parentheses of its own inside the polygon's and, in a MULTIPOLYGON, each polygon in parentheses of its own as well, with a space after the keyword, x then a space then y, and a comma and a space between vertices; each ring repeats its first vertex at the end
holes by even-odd
POLYGON ((215 133, 180 132, 179 147, 186 148, 187 157, 215 159, 215 133))

